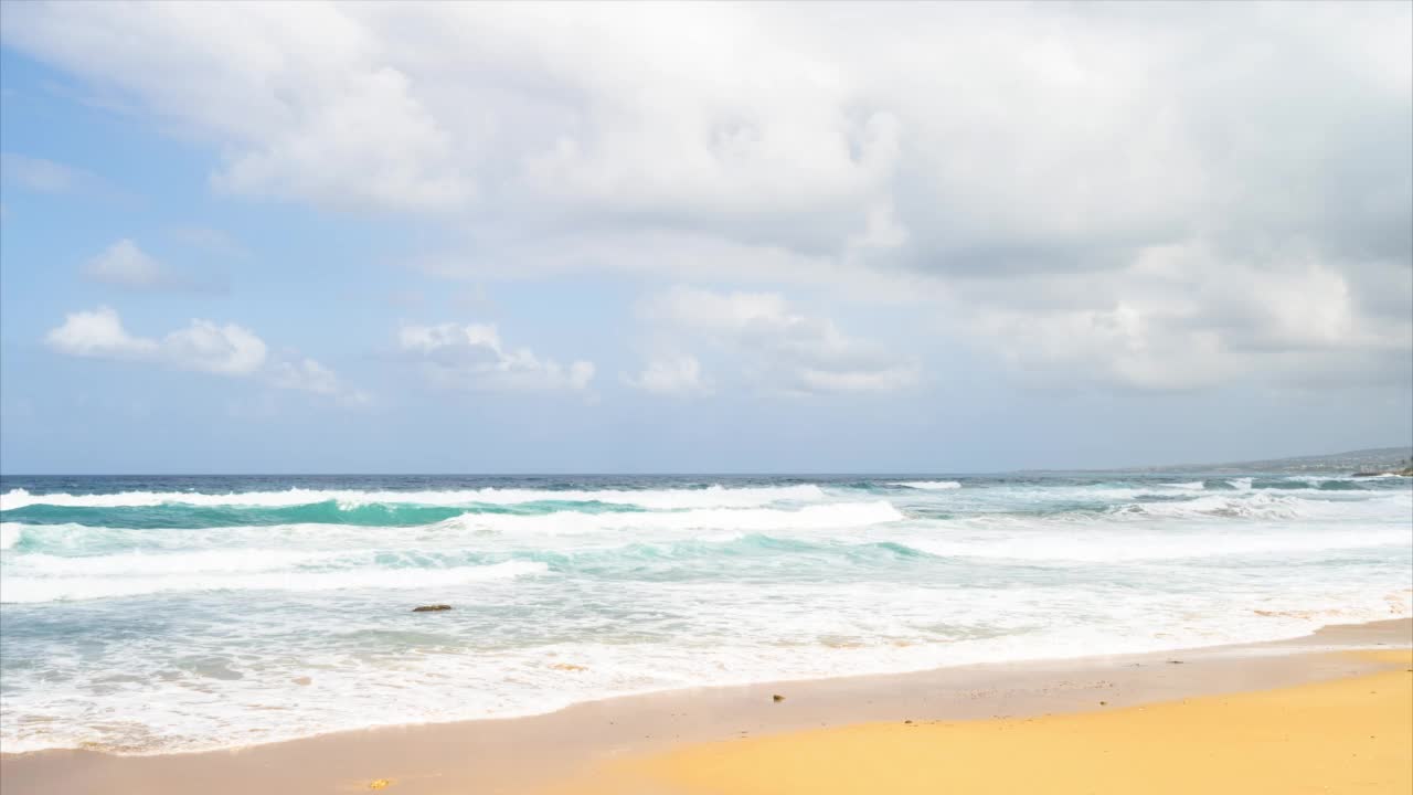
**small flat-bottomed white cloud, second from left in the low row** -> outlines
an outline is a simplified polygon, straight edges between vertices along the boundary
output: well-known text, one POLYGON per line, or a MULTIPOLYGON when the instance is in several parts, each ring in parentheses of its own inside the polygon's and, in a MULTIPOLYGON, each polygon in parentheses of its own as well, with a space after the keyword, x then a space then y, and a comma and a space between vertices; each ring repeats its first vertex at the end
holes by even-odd
POLYGON ((415 361, 439 388, 472 392, 582 392, 593 379, 593 362, 561 366, 528 348, 507 349, 495 325, 407 324, 398 330, 401 355, 415 361))

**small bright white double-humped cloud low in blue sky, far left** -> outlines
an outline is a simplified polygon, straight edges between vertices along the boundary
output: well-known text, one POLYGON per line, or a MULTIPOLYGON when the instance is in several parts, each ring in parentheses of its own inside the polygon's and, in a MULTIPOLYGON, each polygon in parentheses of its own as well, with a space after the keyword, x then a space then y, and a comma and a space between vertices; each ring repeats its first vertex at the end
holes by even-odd
POLYGON ((92 359, 162 365, 230 378, 261 378, 280 389, 328 395, 350 403, 366 403, 367 395, 346 388, 333 371, 309 358, 280 361, 267 366, 267 347, 260 337, 236 324, 192 320, 161 338, 134 337, 117 311, 99 307, 69 313, 51 330, 45 344, 59 354, 92 359))

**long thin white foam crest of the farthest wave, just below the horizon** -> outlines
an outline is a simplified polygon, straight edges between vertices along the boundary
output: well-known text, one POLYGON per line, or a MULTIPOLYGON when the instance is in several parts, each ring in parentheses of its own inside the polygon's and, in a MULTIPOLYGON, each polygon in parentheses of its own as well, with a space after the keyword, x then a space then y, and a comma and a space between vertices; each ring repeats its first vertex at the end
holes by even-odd
POLYGON ((151 508, 155 505, 220 505, 288 508, 335 501, 342 506, 359 505, 517 505, 524 502, 606 502, 613 505, 640 505, 651 509, 681 508, 750 508, 771 502, 804 502, 824 497, 814 484, 784 487, 725 488, 666 488, 666 489, 596 489, 596 491, 554 491, 526 488, 475 488, 458 491, 357 491, 357 489, 308 489, 249 491, 232 494, 201 494, 187 491, 124 491, 119 494, 30 494, 13 488, 0 495, 0 511, 16 511, 30 505, 55 505, 68 508, 151 508))

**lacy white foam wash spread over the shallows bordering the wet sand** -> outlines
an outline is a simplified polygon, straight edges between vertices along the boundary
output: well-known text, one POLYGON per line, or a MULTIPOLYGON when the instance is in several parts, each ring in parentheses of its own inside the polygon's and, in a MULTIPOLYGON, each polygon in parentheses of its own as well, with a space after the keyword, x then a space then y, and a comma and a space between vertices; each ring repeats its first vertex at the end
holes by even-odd
POLYGON ((1369 598, 1366 583, 1337 586, 1317 600, 1280 594, 1238 605, 1219 593, 1145 591, 1113 600, 1108 590, 1081 588, 1057 600, 1023 588, 901 583, 647 590, 626 583, 623 590, 630 604, 651 598, 654 608, 677 615, 706 613, 702 628, 725 625, 729 632, 708 644, 677 642, 681 634, 629 644, 591 634, 487 652, 478 641, 458 645, 465 631, 454 629, 456 624, 398 613, 394 625, 417 627, 418 638, 398 654, 370 654, 374 638, 331 632, 325 625, 333 617, 325 615, 318 618, 324 631, 302 637, 260 631, 206 637, 201 656, 182 656, 175 665, 170 656, 154 656, 148 645, 116 644, 97 676, 48 676, 44 666, 51 659, 17 668, 7 679, 14 696, 7 702, 6 748, 198 751, 377 724, 533 714, 690 686, 1275 639, 1332 620, 1388 613, 1381 598, 1369 598), (1304 608, 1313 608, 1308 618, 1294 617, 1304 608), (991 632, 974 632, 978 628, 991 632), (561 663, 575 668, 565 671, 561 663), (114 672, 129 683, 105 682, 114 672), (102 693, 96 699, 95 689, 102 693), (14 717, 28 714, 47 720, 14 717), (112 714, 141 716, 141 723, 114 721, 112 714))

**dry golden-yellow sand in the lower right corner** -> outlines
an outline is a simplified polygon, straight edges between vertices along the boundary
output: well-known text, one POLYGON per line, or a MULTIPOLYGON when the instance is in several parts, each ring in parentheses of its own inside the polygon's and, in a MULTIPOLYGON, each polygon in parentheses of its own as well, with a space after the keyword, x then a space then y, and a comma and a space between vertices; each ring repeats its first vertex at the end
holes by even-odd
POLYGON ((1413 792, 1413 652, 1280 690, 1034 719, 869 723, 620 760, 598 795, 1413 792))

